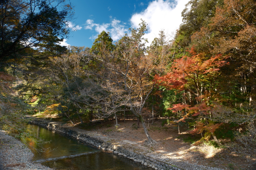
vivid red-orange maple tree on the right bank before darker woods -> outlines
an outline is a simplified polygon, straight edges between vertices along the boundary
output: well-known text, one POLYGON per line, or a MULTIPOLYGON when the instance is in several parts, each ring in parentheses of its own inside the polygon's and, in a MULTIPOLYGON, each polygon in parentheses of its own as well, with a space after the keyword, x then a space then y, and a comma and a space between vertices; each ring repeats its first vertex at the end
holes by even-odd
POLYGON ((174 104, 169 110, 180 113, 179 121, 201 120, 193 121, 194 130, 191 130, 191 133, 201 133, 204 130, 207 132, 205 135, 213 135, 217 141, 214 131, 220 124, 211 121, 211 108, 215 106, 211 100, 212 96, 216 97, 212 94, 216 91, 220 67, 228 64, 223 60, 227 57, 221 54, 214 56, 197 54, 194 47, 189 53, 191 56, 174 60, 166 75, 155 75, 154 81, 169 89, 183 91, 183 103, 174 104))

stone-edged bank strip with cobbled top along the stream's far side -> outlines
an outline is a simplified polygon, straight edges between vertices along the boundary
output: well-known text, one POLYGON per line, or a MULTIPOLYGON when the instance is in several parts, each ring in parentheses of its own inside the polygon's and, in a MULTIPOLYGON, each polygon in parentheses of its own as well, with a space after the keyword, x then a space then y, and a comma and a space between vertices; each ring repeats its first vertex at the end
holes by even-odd
MULTIPOLYGON (((108 135, 102 135, 101 133, 95 131, 83 130, 72 125, 65 124, 62 122, 37 119, 32 121, 32 123, 44 126, 46 128, 56 130, 63 134, 75 137, 77 139, 83 140, 87 143, 94 145, 104 151, 113 152, 123 156, 124 158, 133 160, 155 170, 169 170, 169 169, 202 169, 202 170, 221 170, 227 168, 210 167, 206 165, 189 163, 184 159, 177 158, 177 155, 163 154, 161 152, 153 151, 149 148, 140 144, 133 144, 132 142, 127 142, 125 140, 120 140, 119 138, 112 138, 108 135), (176 158, 175 158, 176 157, 176 158)), ((220 167, 220 166, 219 166, 220 167)))

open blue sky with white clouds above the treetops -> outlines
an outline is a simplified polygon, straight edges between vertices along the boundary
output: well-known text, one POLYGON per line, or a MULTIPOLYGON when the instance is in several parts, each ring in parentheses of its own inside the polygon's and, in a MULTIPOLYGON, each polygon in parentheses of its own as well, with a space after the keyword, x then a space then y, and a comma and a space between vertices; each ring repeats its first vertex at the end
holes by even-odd
POLYGON ((182 22, 181 12, 188 0, 70 0, 74 5, 75 18, 69 38, 61 45, 91 47, 101 31, 110 32, 118 41, 129 28, 137 28, 142 18, 148 23, 145 35, 151 42, 160 30, 171 39, 182 22))

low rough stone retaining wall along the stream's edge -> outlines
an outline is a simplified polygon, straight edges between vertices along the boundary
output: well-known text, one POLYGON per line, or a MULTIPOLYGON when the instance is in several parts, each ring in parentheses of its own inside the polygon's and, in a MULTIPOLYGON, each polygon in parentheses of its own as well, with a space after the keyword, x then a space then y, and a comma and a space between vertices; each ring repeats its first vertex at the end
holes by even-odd
POLYGON ((152 159, 148 156, 135 153, 133 151, 127 150, 123 147, 113 145, 112 143, 109 143, 107 141, 97 139, 95 137, 89 136, 84 133, 77 132, 76 130, 72 130, 66 127, 58 126, 54 123, 48 123, 48 122, 43 122, 43 121, 30 121, 32 124, 36 124, 39 126, 46 127, 48 129, 55 130, 57 132, 66 134, 68 136, 80 139, 84 142, 90 143, 91 145, 102 149, 104 151, 111 151, 114 154, 118 154, 119 156, 123 156, 124 158, 133 160, 134 162, 141 163, 142 165, 155 169, 155 170, 181 170, 181 168, 178 168, 176 166, 166 164, 164 162, 158 161, 156 159, 152 159))

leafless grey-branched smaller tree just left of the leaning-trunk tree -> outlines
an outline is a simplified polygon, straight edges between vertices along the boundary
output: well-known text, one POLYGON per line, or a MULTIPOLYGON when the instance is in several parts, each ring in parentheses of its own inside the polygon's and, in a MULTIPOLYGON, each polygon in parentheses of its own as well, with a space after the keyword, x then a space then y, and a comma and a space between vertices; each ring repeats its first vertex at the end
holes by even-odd
POLYGON ((87 87, 80 89, 81 101, 94 110, 95 117, 109 118, 114 115, 115 126, 118 126, 117 113, 124 111, 124 90, 112 81, 104 80, 101 77, 89 78, 85 81, 87 87))

